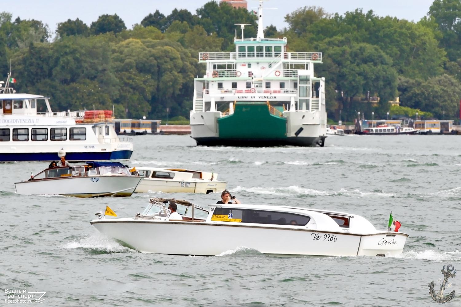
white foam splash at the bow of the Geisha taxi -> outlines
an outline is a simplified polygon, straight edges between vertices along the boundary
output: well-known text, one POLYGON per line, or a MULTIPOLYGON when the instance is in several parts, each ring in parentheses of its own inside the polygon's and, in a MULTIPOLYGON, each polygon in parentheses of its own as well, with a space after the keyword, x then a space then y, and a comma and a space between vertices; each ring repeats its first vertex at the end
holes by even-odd
POLYGON ((111 238, 102 235, 86 235, 78 237, 65 243, 63 249, 83 249, 97 254, 112 254, 134 252, 134 250, 124 247, 111 238))

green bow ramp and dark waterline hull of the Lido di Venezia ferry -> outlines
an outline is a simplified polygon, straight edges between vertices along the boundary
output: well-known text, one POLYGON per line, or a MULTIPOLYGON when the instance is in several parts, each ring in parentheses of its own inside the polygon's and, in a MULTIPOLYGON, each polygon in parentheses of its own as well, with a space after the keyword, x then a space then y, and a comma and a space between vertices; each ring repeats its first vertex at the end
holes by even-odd
POLYGON ((323 146, 325 141, 323 136, 287 137, 287 118, 272 114, 263 102, 237 102, 234 113, 218 118, 217 122, 219 137, 194 137, 197 145, 323 146))

